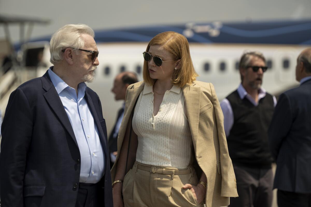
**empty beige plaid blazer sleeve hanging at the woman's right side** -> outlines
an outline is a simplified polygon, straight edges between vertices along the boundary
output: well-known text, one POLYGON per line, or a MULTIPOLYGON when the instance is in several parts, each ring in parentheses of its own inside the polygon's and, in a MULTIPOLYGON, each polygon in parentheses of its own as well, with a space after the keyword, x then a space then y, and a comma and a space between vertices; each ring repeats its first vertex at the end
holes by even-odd
POLYGON ((224 130, 224 116, 220 108, 218 98, 213 84, 210 83, 211 87, 211 102, 214 106, 215 115, 216 115, 216 124, 218 132, 218 141, 220 149, 220 167, 221 167, 221 196, 224 197, 238 197, 236 190, 236 180, 233 170, 232 161, 228 152, 228 145, 224 130))

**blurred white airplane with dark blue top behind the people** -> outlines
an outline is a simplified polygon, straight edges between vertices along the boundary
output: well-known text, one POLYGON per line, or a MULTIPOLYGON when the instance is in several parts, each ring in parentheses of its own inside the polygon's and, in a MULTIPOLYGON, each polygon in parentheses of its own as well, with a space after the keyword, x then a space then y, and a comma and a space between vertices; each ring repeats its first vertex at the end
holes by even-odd
MULTIPOLYGON (((311 46, 311 20, 248 21, 236 23, 186 23, 149 27, 96 30, 99 62, 95 81, 87 83, 100 97, 108 133, 113 127, 122 101, 115 102, 110 91, 115 76, 134 71, 142 80, 143 56, 148 42, 156 34, 175 31, 187 37, 197 80, 213 83, 221 101, 240 83, 239 58, 246 51, 260 51, 269 69, 262 87, 278 95, 298 86, 295 65, 299 53, 311 46)), ((21 66, 35 68, 43 75, 49 62, 49 38, 38 38, 21 45, 17 57, 21 66)))

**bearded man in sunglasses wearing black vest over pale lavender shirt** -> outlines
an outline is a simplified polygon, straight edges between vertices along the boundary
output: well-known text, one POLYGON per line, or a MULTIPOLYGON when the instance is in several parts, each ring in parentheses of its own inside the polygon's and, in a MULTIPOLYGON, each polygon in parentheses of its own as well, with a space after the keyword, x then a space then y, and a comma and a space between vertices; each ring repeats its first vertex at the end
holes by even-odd
POLYGON ((272 205, 272 156, 267 131, 276 98, 261 88, 265 62, 260 52, 244 53, 239 63, 241 84, 220 103, 239 194, 230 199, 230 207, 272 205))

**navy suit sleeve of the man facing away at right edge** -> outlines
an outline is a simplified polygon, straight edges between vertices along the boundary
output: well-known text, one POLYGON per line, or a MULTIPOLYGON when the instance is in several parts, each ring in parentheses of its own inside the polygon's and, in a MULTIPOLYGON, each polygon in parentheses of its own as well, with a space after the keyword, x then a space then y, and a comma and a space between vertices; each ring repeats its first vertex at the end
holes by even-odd
POLYGON ((286 94, 281 94, 276 104, 272 121, 268 130, 269 147, 276 160, 283 139, 287 136, 292 124, 292 108, 286 94))

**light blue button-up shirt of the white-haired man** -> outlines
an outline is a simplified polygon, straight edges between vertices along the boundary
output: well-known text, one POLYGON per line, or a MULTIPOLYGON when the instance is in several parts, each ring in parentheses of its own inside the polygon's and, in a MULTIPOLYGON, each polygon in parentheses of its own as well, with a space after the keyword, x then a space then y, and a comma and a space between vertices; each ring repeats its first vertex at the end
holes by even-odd
POLYGON ((50 79, 63 103, 70 124, 75 134, 81 155, 80 181, 97 183, 104 175, 104 153, 100 143, 98 130, 84 97, 86 84, 78 85, 78 95, 50 67, 50 79))

